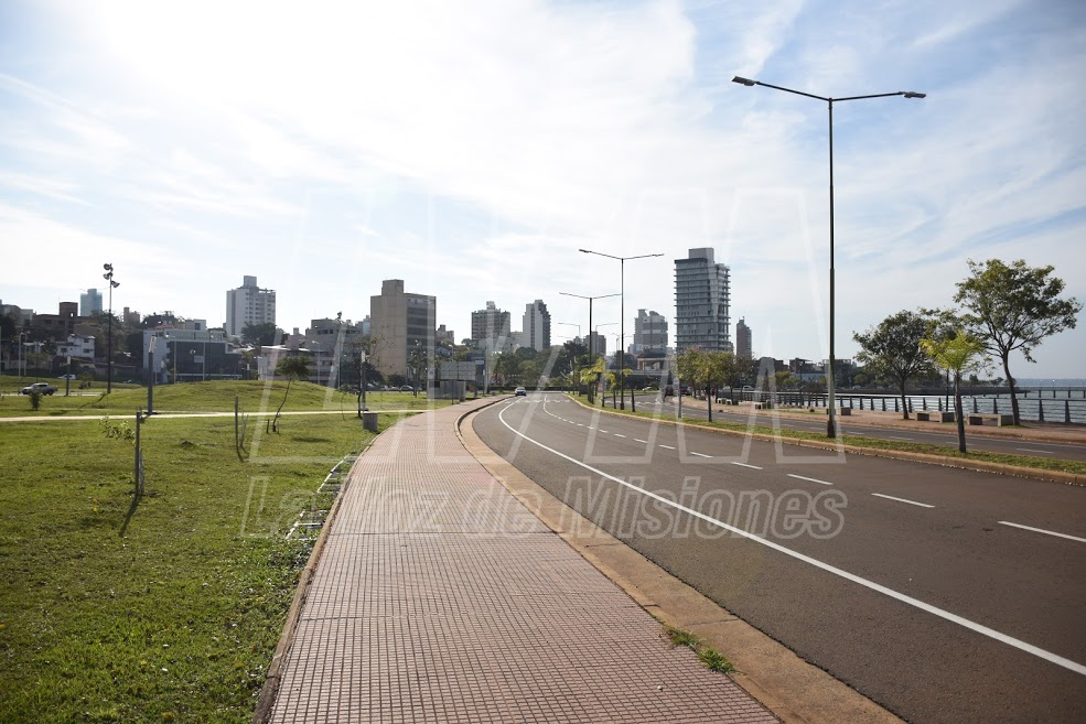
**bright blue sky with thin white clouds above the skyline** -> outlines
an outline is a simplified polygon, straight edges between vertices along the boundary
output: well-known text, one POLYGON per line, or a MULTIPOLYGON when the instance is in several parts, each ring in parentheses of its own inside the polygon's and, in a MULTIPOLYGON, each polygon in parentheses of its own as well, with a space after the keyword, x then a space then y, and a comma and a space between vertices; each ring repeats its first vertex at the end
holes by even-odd
MULTIPOLYGON (((927 94, 834 106, 838 357, 950 306, 968 259, 1086 301, 1086 4, 1046 0, 0 0, 0 300, 55 313, 110 262, 115 310, 219 325, 249 274, 291 331, 402 279, 458 341, 541 299, 560 343, 588 334, 560 292, 624 287, 628 343, 712 247, 732 338, 824 359, 827 104, 735 75, 927 94), (623 280, 581 248, 664 256, 623 280)), ((1080 315, 1011 371, 1086 378, 1084 350, 1080 315)))

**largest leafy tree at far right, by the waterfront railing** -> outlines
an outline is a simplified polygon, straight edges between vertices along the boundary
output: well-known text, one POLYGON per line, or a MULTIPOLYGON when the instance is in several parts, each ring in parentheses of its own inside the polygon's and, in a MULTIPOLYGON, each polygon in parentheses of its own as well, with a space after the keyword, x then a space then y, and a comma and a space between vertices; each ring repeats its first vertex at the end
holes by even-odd
POLYGON ((958 282, 954 295, 966 310, 968 331, 1003 364, 1014 424, 1019 424, 1019 411, 1011 353, 1021 349, 1026 361, 1035 361, 1033 349, 1047 336, 1074 329, 1075 316, 1083 309, 1075 298, 1060 299, 1064 282, 1051 277, 1053 270, 1051 264, 1028 267, 1023 259, 1009 267, 999 259, 982 264, 970 259, 970 275, 958 282))

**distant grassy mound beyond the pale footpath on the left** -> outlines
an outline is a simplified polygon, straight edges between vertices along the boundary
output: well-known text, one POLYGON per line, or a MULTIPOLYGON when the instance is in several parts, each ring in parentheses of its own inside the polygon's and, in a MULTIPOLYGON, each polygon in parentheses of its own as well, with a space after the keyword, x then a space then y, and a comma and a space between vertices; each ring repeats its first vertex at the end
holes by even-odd
MULTIPOLYGON (((64 380, 58 380, 63 382, 64 380)), ((73 388, 72 390, 76 390, 73 388)), ((105 386, 80 390, 94 395, 64 397, 63 385, 55 395, 41 399, 41 409, 31 409, 30 398, 18 395, 0 398, 0 417, 63 417, 80 414, 131 415, 139 408, 147 409, 147 388, 118 389, 106 395, 105 386)), ((239 398, 245 412, 261 410, 273 413, 287 391, 286 381, 258 380, 182 382, 154 387, 155 412, 233 412, 234 397, 239 398)), ((366 407, 370 410, 427 410, 449 404, 449 400, 428 400, 410 392, 367 392, 366 407)), ((357 413, 354 393, 340 392, 313 382, 293 382, 283 412, 312 410, 357 413)))

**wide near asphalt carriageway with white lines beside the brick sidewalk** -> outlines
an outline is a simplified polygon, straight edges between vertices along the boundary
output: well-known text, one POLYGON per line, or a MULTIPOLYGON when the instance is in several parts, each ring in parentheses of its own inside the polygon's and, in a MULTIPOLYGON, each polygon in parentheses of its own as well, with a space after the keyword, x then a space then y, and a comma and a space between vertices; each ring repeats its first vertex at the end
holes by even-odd
POLYGON ((676 429, 560 395, 498 403, 474 428, 907 721, 1086 721, 1086 489, 676 429))

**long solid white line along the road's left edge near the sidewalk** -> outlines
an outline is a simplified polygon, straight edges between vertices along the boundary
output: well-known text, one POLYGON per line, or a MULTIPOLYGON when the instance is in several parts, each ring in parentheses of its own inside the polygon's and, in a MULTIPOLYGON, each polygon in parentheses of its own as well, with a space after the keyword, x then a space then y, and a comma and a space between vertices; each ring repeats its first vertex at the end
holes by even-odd
POLYGON ((594 474, 596 474, 596 475, 599 475, 601 477, 604 477, 604 478, 606 478, 609 480, 612 480, 614 483, 617 483, 619 485, 622 485, 623 487, 626 487, 626 488, 628 488, 628 489, 631 489, 631 490, 633 490, 635 493, 639 493, 641 495, 644 495, 644 496, 646 496, 648 498, 653 498, 654 500, 656 500, 658 503, 662 503, 663 505, 669 506, 671 508, 675 508, 676 510, 681 510, 682 512, 686 512, 686 514, 688 514, 690 516, 693 516, 695 518, 698 518, 699 520, 705 520, 708 523, 712 523, 714 526, 718 526, 718 527, 720 527, 720 528, 722 528, 722 529, 724 529, 727 531, 730 531, 730 532, 735 533, 736 536, 740 536, 740 537, 745 538, 745 539, 748 539, 750 541, 753 541, 755 543, 759 543, 760 545, 765 545, 766 548, 773 549, 773 550, 777 551, 778 553, 784 553, 785 555, 788 555, 791 558, 794 558, 797 561, 803 561, 804 563, 807 563, 808 565, 813 565, 813 566, 815 566, 815 568, 817 568, 817 569, 819 569, 821 571, 825 571, 825 572, 830 573, 832 575, 836 575, 836 576, 839 576, 841 579, 845 579, 846 581, 850 581, 852 583, 856 583, 857 585, 861 585, 864 588, 869 588, 869 590, 874 591, 877 593, 881 593, 884 596, 889 596, 890 598, 893 598, 895 601, 900 601, 901 603, 904 603, 904 604, 907 604, 910 606, 914 606, 915 608, 920 608, 921 610, 927 612, 927 613, 932 614, 933 616, 938 616, 939 618, 943 618, 944 620, 948 620, 950 623, 958 624, 959 626, 963 626, 965 628, 968 628, 971 631, 976 631, 977 634, 980 634, 981 636, 987 636, 988 638, 991 638, 993 640, 1000 641, 1001 644, 1007 644, 1008 646, 1012 646, 1012 647, 1014 647, 1014 648, 1017 648, 1017 649, 1019 649, 1021 651, 1025 651, 1026 653, 1031 653, 1031 655, 1033 655, 1033 656, 1035 656, 1035 657, 1037 657, 1040 659, 1044 659, 1045 661, 1049 661, 1051 663, 1055 663, 1058 667, 1063 667, 1063 668, 1065 668, 1065 669, 1067 669, 1069 671, 1074 671, 1075 673, 1078 673, 1078 674, 1082 674, 1082 676, 1086 677, 1086 666, 1083 666, 1082 663, 1078 663, 1077 661, 1072 661, 1071 659, 1064 658, 1064 657, 1060 656, 1058 653, 1053 653, 1051 651, 1045 651, 1044 649, 1042 649, 1042 648, 1040 648, 1037 646, 1033 646, 1032 644, 1026 644, 1025 641, 1023 641, 1021 639, 1014 638, 1012 636, 1008 636, 1007 634, 997 631, 994 628, 989 628, 989 627, 987 627, 987 626, 985 626, 982 624, 978 624, 976 622, 971 622, 968 618, 965 618, 963 616, 958 616, 957 614, 951 614, 949 610, 944 610, 943 608, 939 608, 938 606, 933 606, 929 603, 924 603, 920 598, 913 598, 912 596, 907 596, 907 595, 905 595, 903 593, 899 593, 897 591, 894 591, 893 588, 888 588, 886 586, 884 586, 884 585, 882 585, 880 583, 875 583, 874 581, 868 581, 867 579, 863 579, 863 577, 861 577, 859 575, 856 575, 854 573, 849 573, 848 571, 846 571, 843 569, 839 569, 836 565, 830 565, 829 563, 824 563, 822 561, 819 561, 818 559, 814 559, 814 558, 811 558, 809 555, 805 555, 804 553, 799 553, 798 551, 794 551, 794 550, 792 550, 789 548, 785 548, 784 545, 782 545, 779 543, 775 543, 775 542, 773 542, 771 540, 766 540, 765 538, 761 538, 760 536, 755 536, 754 533, 749 532, 749 531, 745 531, 742 528, 736 528, 735 526, 730 526, 730 525, 723 522, 722 520, 717 520, 716 518, 712 518, 710 516, 707 516, 703 512, 700 512, 698 510, 693 510, 692 508, 687 508, 686 506, 679 505, 678 503, 675 503, 674 500, 669 500, 668 498, 665 498, 662 495, 657 495, 655 493, 652 493, 649 490, 646 490, 645 488, 638 487, 638 486, 634 485, 633 483, 630 483, 627 480, 623 480, 621 477, 615 477, 614 475, 609 475, 607 473, 604 473, 603 471, 601 471, 599 468, 592 467, 591 465, 585 465, 584 463, 582 463, 581 461, 577 460, 576 457, 570 457, 566 453, 561 453, 561 452, 555 450, 553 447, 548 447, 547 445, 542 444, 541 442, 537 442, 537 441, 533 440, 531 437, 529 437, 528 435, 526 435, 523 432, 520 432, 519 430, 515 429, 513 425, 510 425, 508 422, 505 421, 505 412, 506 412, 506 410, 508 410, 507 407, 506 408, 503 408, 497 413, 497 417, 498 417, 498 420, 502 421, 502 424, 504 424, 506 426, 506 429, 509 430, 509 432, 512 432, 513 434, 517 435, 518 437, 523 437, 524 440, 527 440, 528 442, 530 442, 533 445, 536 445, 537 447, 541 447, 542 450, 546 450, 547 452, 549 452, 549 453, 551 453, 553 455, 557 455, 558 457, 561 457, 562 460, 569 461, 570 463, 573 463, 574 465, 578 465, 579 467, 583 467, 587 471, 590 471, 590 472, 592 472, 592 473, 594 473, 594 474))

